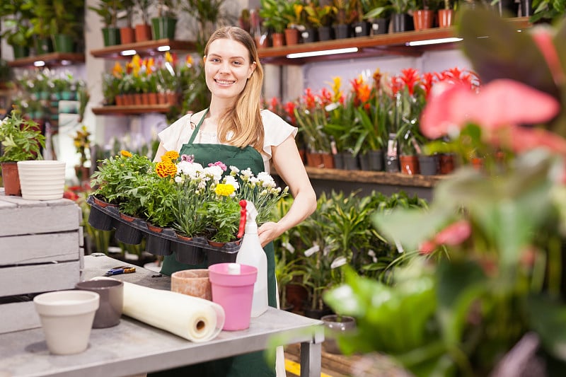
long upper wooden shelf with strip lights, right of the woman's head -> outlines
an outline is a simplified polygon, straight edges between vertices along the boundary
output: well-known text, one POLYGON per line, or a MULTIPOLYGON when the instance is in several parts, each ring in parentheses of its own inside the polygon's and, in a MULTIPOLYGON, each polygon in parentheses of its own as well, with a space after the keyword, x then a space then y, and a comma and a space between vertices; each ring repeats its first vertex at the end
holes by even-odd
MULTIPOLYGON (((529 28, 528 17, 508 18, 510 23, 516 25, 516 28, 529 28)), ((388 33, 381 35, 369 35, 367 37, 352 37, 339 40, 325 40, 321 42, 301 43, 299 45, 283 46, 283 47, 266 47, 258 50, 260 59, 267 64, 305 64, 307 62, 318 62, 330 59, 350 59, 369 56, 382 55, 408 55, 420 56, 425 51, 446 50, 454 48, 458 42, 449 42, 436 45, 408 46, 408 42, 434 40, 440 38, 454 37, 456 30, 452 28, 431 28, 418 31, 407 31, 403 33, 388 33), (349 47, 357 47, 358 52, 348 54, 330 54, 318 57, 304 57, 298 59, 289 59, 287 54, 299 52, 318 52, 325 50, 344 49, 349 47)))

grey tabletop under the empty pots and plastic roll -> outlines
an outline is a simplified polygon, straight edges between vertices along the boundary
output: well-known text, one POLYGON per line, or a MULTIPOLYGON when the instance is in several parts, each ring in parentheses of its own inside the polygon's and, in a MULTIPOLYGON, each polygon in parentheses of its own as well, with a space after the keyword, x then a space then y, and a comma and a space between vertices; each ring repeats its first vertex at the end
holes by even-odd
MULTIPOLYGON (((124 263, 88 255, 83 279, 102 276, 119 265, 124 263)), ((116 278, 157 289, 170 288, 170 277, 136 268, 137 272, 116 278)), ((280 344, 320 344, 324 340, 320 320, 275 308, 252 318, 246 330, 222 331, 204 343, 190 342, 122 315, 115 327, 93 329, 86 351, 75 355, 50 354, 41 328, 0 335, 0 377, 129 376, 258 351, 265 349, 274 335, 281 337, 280 344)), ((308 362, 312 361, 320 365, 320 359, 308 362)))

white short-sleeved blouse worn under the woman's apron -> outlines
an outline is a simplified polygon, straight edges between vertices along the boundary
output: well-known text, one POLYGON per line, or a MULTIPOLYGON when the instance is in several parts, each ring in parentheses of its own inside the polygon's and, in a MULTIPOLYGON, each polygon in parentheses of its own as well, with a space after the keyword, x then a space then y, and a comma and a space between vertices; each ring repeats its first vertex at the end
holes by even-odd
MULTIPOLYGON (((199 122, 204 112, 193 115, 193 121, 199 122)), ((270 110, 261 110, 260 115, 263 122, 265 137, 263 139, 263 166, 270 173, 271 147, 278 146, 289 137, 296 136, 297 128, 285 122, 279 115, 270 110)), ((171 126, 159 132, 158 137, 166 151, 180 151, 183 144, 187 144, 194 131, 190 124, 191 115, 187 114, 173 122, 171 126)), ((195 144, 219 144, 216 132, 199 131, 195 137, 195 144)))

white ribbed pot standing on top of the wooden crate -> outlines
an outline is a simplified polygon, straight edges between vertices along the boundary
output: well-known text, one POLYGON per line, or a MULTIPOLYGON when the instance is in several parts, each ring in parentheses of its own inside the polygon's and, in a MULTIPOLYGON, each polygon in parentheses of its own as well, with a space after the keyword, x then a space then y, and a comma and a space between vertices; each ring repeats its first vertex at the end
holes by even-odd
POLYGON ((23 199, 54 200, 63 197, 64 161, 18 161, 18 175, 23 199))

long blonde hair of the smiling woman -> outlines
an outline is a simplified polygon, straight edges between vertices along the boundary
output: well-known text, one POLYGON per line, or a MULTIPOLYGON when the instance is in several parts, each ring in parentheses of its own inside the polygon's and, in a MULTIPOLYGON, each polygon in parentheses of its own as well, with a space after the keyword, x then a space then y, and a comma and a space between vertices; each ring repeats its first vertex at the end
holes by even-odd
POLYGON ((258 50, 251 35, 236 26, 225 26, 216 30, 209 38, 204 55, 208 55, 209 46, 214 40, 231 39, 240 42, 249 52, 250 64, 255 62, 255 70, 246 82, 243 91, 236 98, 233 108, 228 109, 221 117, 218 125, 218 139, 222 143, 243 148, 252 146, 262 153, 263 149, 263 122, 260 115, 261 90, 263 83, 263 68, 258 57, 258 50), (227 135, 232 133, 232 138, 227 135))

